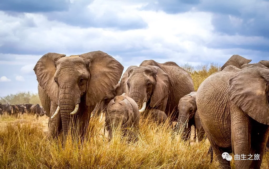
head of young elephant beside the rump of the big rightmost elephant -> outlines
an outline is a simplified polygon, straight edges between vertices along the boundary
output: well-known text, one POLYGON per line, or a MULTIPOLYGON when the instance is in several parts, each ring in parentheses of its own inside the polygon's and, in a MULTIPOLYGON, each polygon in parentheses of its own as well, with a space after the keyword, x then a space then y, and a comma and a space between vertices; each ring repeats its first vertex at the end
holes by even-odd
POLYGON ((197 110, 196 92, 191 92, 180 98, 178 103, 178 127, 186 128, 189 119, 193 118, 197 110))

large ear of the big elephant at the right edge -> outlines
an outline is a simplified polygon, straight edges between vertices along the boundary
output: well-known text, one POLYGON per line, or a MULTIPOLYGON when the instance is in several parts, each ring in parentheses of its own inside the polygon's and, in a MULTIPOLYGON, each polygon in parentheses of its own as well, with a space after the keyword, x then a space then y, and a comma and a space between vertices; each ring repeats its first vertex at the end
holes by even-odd
POLYGON ((251 118, 269 125, 269 70, 249 68, 229 80, 228 95, 251 118))

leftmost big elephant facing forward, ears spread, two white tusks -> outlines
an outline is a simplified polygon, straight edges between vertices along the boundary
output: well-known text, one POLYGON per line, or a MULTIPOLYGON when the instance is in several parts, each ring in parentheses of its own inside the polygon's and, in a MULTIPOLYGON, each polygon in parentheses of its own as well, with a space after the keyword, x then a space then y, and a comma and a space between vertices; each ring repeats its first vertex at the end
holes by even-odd
POLYGON ((83 138, 90 113, 96 104, 118 83, 123 66, 102 51, 65 57, 47 53, 34 67, 38 94, 44 110, 50 114, 48 138, 63 132, 63 143, 83 138))

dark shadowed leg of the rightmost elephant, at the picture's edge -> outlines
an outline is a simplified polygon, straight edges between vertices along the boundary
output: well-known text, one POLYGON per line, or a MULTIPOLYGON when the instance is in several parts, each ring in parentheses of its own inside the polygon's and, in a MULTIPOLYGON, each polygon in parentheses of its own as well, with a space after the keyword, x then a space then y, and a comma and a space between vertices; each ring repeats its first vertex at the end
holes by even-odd
POLYGON ((260 168, 264 150, 266 149, 269 128, 268 125, 258 123, 253 119, 250 120, 253 121, 250 154, 253 155, 252 159, 254 159, 254 154, 260 155, 260 160, 251 160, 250 168, 260 168))

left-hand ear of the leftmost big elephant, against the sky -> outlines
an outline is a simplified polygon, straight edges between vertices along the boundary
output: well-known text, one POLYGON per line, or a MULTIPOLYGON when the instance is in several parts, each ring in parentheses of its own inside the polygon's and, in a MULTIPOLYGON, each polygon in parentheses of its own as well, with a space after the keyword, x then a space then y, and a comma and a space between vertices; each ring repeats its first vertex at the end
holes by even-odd
POLYGON ((56 72, 56 62, 66 55, 59 53, 47 53, 43 55, 36 63, 34 72, 41 88, 45 90, 49 98, 56 104, 59 100, 59 87, 54 80, 56 72))

